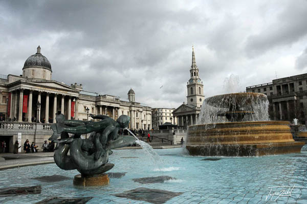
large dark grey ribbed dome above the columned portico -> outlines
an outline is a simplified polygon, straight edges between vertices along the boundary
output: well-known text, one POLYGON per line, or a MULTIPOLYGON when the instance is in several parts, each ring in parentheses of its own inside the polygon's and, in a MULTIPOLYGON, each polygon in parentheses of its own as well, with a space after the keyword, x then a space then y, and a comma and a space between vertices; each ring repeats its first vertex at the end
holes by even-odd
POLYGON ((26 60, 23 70, 26 68, 42 68, 52 72, 51 64, 47 59, 47 57, 43 56, 40 53, 39 46, 37 47, 37 53, 29 56, 28 59, 26 60))

